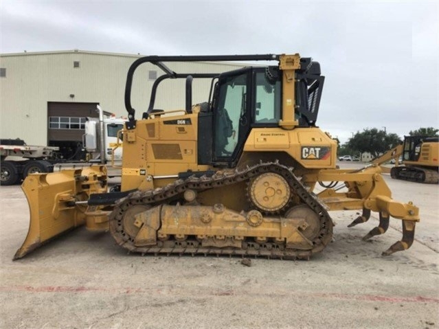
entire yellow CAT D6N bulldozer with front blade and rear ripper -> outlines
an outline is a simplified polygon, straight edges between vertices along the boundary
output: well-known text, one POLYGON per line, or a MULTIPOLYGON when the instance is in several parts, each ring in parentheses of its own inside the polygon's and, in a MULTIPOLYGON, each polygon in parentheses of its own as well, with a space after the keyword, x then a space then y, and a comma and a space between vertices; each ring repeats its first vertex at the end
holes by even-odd
MULTIPOLYGON (((244 66, 244 65, 243 65, 244 66)), ((22 188, 30 228, 14 259, 55 236, 84 225, 109 231, 128 252, 310 259, 333 238, 333 210, 362 209, 385 233, 390 216, 403 237, 383 252, 408 249, 419 209, 392 199, 379 166, 341 170, 337 143, 318 126, 324 76, 299 54, 146 56, 128 69, 124 101, 120 190, 109 192, 105 166, 30 174, 22 188), (265 61, 222 73, 177 73, 177 62, 265 61), (144 63, 163 74, 141 117, 131 104, 133 76, 144 63), (274 63, 274 64, 273 64, 274 63), (210 85, 192 104, 192 81, 210 85), (183 80, 182 109, 155 108, 157 89, 183 80), (317 192, 316 184, 343 182, 317 192)), ((169 94, 169 93, 168 93, 169 94)), ((116 146, 117 148, 117 146, 116 146)))

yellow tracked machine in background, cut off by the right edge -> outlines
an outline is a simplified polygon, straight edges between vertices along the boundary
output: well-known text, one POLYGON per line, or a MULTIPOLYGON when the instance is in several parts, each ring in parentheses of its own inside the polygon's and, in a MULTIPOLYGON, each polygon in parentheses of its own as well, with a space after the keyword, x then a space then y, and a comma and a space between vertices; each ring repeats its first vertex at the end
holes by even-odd
POLYGON ((439 183, 439 137, 404 136, 403 144, 388 150, 371 163, 381 166, 381 170, 390 173, 393 179, 437 184, 439 183), (402 157, 404 166, 399 166, 399 157, 402 157), (390 159, 395 159, 394 167, 381 166, 390 159))

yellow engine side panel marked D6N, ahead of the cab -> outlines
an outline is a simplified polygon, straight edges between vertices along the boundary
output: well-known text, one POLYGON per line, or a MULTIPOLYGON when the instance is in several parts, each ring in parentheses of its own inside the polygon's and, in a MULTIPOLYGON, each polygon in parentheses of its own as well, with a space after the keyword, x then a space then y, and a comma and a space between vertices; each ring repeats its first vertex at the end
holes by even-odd
POLYGON ((146 181, 163 185, 179 172, 210 168, 197 163, 198 131, 198 113, 137 121, 134 129, 124 133, 122 191, 139 188, 146 181))

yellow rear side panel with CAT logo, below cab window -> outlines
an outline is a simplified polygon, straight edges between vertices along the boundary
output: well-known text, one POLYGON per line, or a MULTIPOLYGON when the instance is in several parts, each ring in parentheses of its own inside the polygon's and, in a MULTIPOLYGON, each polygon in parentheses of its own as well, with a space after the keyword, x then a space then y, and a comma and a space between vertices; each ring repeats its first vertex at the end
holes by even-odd
POLYGON ((337 142, 319 128, 253 128, 244 151, 284 151, 304 168, 335 168, 337 142))

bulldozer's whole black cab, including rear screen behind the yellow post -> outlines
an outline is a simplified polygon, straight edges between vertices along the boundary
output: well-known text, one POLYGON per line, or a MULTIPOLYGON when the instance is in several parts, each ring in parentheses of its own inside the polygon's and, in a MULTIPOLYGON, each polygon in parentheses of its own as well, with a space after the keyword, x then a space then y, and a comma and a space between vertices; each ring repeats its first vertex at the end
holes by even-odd
MULTIPOLYGON (((294 120, 299 127, 315 126, 324 77, 320 76, 318 63, 310 58, 302 61, 305 67, 296 73, 294 120)), ((282 74, 278 67, 229 71, 219 76, 213 95, 213 126, 199 125, 199 136, 207 133, 207 129, 213 131, 210 161, 215 166, 234 167, 251 128, 280 126, 282 74)), ((207 152, 207 147, 200 144, 199 155, 207 152)))

